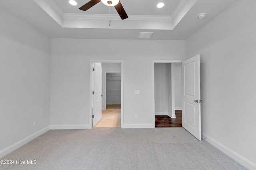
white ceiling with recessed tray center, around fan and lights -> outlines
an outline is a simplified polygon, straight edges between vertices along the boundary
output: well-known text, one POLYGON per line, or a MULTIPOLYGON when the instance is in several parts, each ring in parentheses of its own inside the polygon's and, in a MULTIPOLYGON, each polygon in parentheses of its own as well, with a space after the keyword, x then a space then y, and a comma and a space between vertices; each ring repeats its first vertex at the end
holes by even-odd
POLYGON ((0 6, 52 38, 138 39, 139 32, 153 32, 151 39, 185 40, 236 0, 120 0, 129 18, 121 20, 111 7, 111 26, 109 7, 101 2, 78 9, 88 1, 70 6, 68 0, 0 0, 0 6), (164 8, 156 8, 158 2, 164 8), (202 12, 207 14, 200 20, 202 12))

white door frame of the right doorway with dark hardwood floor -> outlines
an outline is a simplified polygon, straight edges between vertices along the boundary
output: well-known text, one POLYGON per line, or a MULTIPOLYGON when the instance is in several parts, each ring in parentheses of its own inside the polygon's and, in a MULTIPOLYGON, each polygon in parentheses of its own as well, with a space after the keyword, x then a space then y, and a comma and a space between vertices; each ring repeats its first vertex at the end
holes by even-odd
MULTIPOLYGON (((152 119, 155 120, 155 63, 182 63, 184 60, 153 60, 152 61, 152 86, 153 86, 153 109, 152 109, 152 119)), ((172 94, 173 95, 173 94, 172 94)), ((174 104, 174 101, 172 101, 174 104)), ((172 106, 173 106, 172 104, 172 106)), ((173 108, 174 109, 174 108, 173 108)), ((175 111, 175 110, 174 110, 175 111)))

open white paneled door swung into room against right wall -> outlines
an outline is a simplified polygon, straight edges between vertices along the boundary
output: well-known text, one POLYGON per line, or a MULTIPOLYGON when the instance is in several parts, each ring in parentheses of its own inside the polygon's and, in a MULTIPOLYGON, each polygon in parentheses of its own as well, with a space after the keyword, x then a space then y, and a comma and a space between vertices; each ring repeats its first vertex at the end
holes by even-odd
POLYGON ((182 62, 182 127, 201 141, 200 55, 182 62))

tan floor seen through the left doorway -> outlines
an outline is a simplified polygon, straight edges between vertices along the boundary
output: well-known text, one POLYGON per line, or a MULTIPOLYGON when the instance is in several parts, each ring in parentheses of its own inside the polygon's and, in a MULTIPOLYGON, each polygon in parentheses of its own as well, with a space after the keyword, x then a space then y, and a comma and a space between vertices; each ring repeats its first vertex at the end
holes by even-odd
POLYGON ((121 127, 121 105, 107 105, 102 117, 94 127, 121 127))

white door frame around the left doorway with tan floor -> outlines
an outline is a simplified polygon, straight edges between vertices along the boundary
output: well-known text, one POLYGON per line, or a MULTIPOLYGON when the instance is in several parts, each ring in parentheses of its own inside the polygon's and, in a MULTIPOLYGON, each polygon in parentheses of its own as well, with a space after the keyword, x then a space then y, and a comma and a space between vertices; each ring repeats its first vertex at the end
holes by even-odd
POLYGON ((92 128, 92 63, 121 63, 121 128, 124 127, 124 61, 123 60, 90 60, 89 80, 89 127, 92 128))

